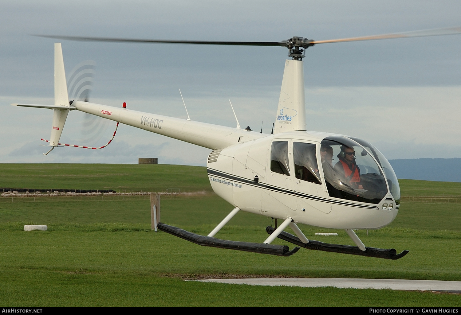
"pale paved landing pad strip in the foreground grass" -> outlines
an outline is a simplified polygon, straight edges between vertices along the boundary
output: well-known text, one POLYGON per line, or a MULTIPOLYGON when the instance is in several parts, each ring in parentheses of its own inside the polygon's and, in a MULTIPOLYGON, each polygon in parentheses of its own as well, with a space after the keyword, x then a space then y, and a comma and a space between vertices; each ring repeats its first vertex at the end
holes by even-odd
POLYGON ((394 279, 344 279, 344 278, 256 278, 256 279, 206 279, 201 282, 247 284, 254 286, 302 286, 356 289, 392 289, 450 291, 461 293, 461 281, 394 280, 394 279))

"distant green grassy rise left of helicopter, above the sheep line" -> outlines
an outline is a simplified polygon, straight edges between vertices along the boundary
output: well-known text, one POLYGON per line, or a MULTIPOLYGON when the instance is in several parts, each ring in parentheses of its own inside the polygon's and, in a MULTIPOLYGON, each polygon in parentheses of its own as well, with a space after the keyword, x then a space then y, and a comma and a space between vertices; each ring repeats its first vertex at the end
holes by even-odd
POLYGON ((168 164, 0 164, 0 187, 113 189, 117 192, 212 191, 207 170, 168 164))

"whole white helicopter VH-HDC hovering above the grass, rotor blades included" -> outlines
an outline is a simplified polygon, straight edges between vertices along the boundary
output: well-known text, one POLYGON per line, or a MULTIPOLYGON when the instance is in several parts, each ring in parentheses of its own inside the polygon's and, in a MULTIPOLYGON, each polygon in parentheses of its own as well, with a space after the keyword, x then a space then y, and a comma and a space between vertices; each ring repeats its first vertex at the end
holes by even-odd
MULTIPOLYGON (((399 259, 395 249, 366 247, 354 229, 378 229, 390 224, 400 207, 400 188, 387 159, 365 140, 341 134, 306 130, 304 74, 305 49, 315 44, 377 39, 460 34, 461 28, 430 29, 327 41, 292 37, 280 42, 168 41, 120 38, 43 36, 77 41, 184 43, 206 45, 280 46, 289 49, 285 60, 282 88, 271 134, 166 117, 126 108, 69 100, 60 43, 54 44, 54 105, 12 104, 53 109, 49 140, 51 152, 59 139, 69 111, 77 110, 183 140, 213 150, 207 160, 210 184, 234 210, 207 236, 158 223, 157 227, 199 245, 290 256, 286 245, 272 245, 275 238, 321 251, 399 259), (304 48, 301 49, 301 48, 304 48), (336 156, 338 162, 333 165, 336 156), (267 227, 270 236, 263 243, 235 242, 214 235, 239 211, 275 218, 267 227), (283 222, 278 225, 278 220, 283 222), (357 246, 326 244, 309 240, 298 223, 344 229, 357 246), (284 232, 290 226, 295 235, 284 232)), ((187 111, 187 109, 186 109, 187 111)))

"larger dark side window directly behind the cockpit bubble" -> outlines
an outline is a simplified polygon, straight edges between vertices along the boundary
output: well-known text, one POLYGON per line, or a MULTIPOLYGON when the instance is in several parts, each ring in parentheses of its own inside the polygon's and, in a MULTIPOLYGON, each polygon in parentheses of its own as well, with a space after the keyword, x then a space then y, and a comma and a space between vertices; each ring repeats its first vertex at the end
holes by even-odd
POLYGON ((297 179, 321 184, 314 144, 293 142, 293 158, 295 160, 295 176, 297 179))

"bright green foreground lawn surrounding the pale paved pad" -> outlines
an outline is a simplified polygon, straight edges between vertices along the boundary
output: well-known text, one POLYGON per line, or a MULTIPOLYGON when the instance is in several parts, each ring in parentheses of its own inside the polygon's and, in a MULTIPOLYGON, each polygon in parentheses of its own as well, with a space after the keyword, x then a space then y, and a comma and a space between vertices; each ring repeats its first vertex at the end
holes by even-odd
MULTIPOLYGON (((211 226, 198 227, 198 233, 211 226)), ((299 251, 276 257, 201 247, 166 233, 0 232, 0 303, 8 306, 460 306, 461 296, 429 292, 222 285, 184 282, 194 274, 259 274, 461 280, 455 239, 388 231, 370 244, 411 246, 398 261, 299 251), (449 245, 451 244, 451 245, 449 245), (446 250, 443 246, 449 245, 446 250), (426 246, 434 248, 427 257, 426 246), (444 263, 440 263, 442 255, 444 263), (287 304, 288 303, 288 304, 287 304)), ((230 227, 221 237, 260 240, 258 228, 230 227)), ((456 239, 457 238, 457 239, 456 239)), ((341 235, 338 240, 346 241, 341 235)))

